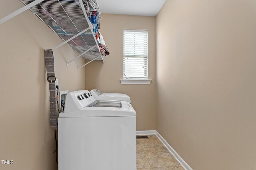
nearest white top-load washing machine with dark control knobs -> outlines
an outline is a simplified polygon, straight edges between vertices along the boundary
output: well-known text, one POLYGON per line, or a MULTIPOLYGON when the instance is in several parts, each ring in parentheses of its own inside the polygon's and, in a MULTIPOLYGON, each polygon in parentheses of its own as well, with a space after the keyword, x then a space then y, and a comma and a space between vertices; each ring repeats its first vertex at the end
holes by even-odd
POLYGON ((130 103, 70 92, 58 119, 59 170, 136 170, 136 112, 130 103))

